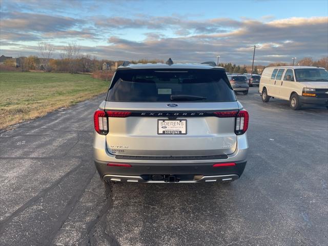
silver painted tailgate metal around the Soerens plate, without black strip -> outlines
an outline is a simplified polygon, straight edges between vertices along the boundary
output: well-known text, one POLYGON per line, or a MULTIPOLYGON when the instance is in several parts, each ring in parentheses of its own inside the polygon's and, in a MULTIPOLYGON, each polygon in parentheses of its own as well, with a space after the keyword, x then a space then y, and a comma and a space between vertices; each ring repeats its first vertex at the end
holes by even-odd
MULTIPOLYGON (((168 107, 168 103, 106 102, 105 110, 185 112, 239 109, 237 101, 177 103, 178 107, 174 108, 168 107)), ((236 150, 235 118, 179 116, 176 119, 187 120, 187 135, 158 135, 158 119, 168 117, 110 117, 107 150, 111 154, 139 156, 221 155, 236 150)))

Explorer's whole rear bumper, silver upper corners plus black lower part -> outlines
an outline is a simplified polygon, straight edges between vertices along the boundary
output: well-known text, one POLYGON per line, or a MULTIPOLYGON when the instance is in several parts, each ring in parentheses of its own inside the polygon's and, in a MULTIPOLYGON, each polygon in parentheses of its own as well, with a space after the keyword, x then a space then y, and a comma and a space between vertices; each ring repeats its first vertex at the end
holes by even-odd
MULTIPOLYGON (((208 159, 179 159, 179 160, 160 160, 160 159, 120 159, 110 154, 106 148, 106 136, 95 133, 93 142, 94 162, 101 179, 108 180, 119 175, 120 181, 128 179, 138 182, 153 182, 151 175, 175 175, 183 182, 202 182, 208 179, 225 181, 222 175, 231 175, 232 180, 239 178, 242 174, 248 154, 247 133, 237 136, 236 150, 224 158, 208 159), (109 167, 107 163, 128 163, 132 167, 109 167), (234 162, 236 166, 213 167, 214 163, 234 162), (107 175, 107 176, 106 176, 107 175), (110 176, 111 175, 111 176, 110 176), (128 176, 128 177, 124 177, 128 176), (133 178, 131 178, 131 176, 133 178), (206 177, 203 177, 206 176, 206 177), (220 176, 220 177, 211 177, 220 176), (221 177, 222 176, 222 177, 221 177), (140 179, 141 178, 141 179, 140 179)), ((115 181, 115 180, 112 180, 115 181)), ((156 180, 157 182, 157 180, 156 180)), ((163 180, 161 181, 163 182, 163 180)))

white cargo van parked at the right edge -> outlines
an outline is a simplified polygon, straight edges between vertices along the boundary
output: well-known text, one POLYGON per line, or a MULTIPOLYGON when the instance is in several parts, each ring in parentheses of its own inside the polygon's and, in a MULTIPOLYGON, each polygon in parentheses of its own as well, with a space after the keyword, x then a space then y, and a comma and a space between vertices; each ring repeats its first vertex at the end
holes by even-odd
POLYGON ((264 103, 270 97, 285 99, 294 110, 302 104, 328 109, 328 72, 318 67, 268 67, 263 70, 259 93, 264 103))

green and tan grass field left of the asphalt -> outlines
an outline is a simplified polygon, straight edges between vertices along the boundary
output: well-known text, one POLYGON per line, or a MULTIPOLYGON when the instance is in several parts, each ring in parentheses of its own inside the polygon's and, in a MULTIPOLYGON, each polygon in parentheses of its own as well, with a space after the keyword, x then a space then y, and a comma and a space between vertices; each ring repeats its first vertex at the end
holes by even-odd
POLYGON ((0 129, 104 93, 108 85, 82 74, 0 72, 0 129))

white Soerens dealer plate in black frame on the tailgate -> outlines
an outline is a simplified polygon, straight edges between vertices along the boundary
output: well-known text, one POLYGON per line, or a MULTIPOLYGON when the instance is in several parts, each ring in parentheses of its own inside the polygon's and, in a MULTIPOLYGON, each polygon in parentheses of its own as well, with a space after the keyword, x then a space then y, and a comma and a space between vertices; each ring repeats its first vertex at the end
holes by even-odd
POLYGON ((158 119, 157 134, 159 135, 186 135, 187 119, 158 119))

